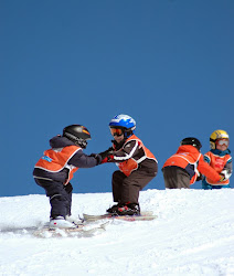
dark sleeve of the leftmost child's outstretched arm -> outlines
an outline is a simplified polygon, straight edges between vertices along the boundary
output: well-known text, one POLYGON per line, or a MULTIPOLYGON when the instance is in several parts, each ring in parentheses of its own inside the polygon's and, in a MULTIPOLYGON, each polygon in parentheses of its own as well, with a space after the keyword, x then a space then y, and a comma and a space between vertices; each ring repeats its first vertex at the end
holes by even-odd
POLYGON ((93 168, 97 166, 98 160, 93 156, 85 155, 82 150, 78 150, 68 161, 68 164, 73 164, 77 168, 93 168))

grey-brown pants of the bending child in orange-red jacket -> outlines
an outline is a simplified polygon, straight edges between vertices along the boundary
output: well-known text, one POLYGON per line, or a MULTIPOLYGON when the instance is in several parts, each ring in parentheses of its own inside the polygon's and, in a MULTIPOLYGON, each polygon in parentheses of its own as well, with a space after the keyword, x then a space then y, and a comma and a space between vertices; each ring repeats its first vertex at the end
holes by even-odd
POLYGON ((190 176, 189 173, 176 166, 162 168, 164 178, 164 187, 168 189, 190 189, 190 176))

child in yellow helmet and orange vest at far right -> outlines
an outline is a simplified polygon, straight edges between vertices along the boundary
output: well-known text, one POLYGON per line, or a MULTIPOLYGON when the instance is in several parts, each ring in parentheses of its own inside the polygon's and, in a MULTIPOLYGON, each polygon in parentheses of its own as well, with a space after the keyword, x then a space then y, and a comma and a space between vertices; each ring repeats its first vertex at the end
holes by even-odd
POLYGON ((212 179, 204 177, 202 180, 202 189, 222 189, 230 188, 230 177, 232 176, 232 157, 228 149, 230 137, 225 130, 215 130, 210 137, 211 150, 204 155, 204 160, 216 172, 225 176, 222 182, 213 181, 212 179))

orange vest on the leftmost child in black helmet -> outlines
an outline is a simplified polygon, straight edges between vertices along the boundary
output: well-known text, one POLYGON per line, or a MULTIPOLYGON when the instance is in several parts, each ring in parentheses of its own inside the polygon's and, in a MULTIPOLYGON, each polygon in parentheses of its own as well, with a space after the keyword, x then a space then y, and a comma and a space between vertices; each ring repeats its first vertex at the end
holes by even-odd
POLYGON ((42 169, 49 172, 60 172, 64 168, 68 169, 68 178, 64 185, 66 185, 73 178, 73 173, 78 170, 75 166, 67 164, 70 159, 82 148, 78 146, 68 146, 59 149, 47 149, 44 151, 44 156, 39 159, 35 168, 42 169))

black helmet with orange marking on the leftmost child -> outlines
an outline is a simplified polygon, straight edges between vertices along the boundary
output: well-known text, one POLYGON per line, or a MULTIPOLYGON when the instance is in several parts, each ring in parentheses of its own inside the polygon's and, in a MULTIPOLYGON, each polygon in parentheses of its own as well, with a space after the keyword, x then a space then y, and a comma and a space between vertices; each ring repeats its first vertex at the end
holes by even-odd
POLYGON ((91 140, 91 134, 86 127, 82 125, 71 125, 63 129, 63 136, 71 141, 77 144, 83 149, 87 146, 87 140, 91 140))

